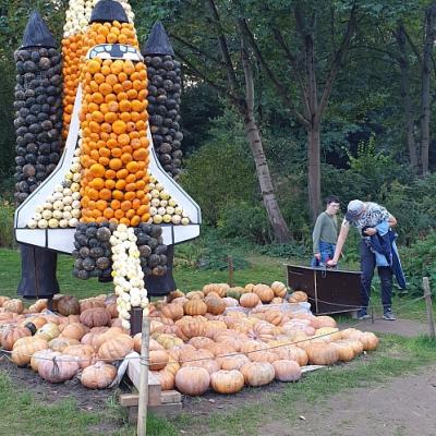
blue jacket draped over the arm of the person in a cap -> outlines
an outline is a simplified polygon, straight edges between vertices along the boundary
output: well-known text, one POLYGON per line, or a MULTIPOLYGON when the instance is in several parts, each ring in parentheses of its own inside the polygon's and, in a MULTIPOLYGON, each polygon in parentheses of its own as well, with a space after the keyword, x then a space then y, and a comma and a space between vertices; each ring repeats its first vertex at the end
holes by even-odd
POLYGON ((405 289, 405 277, 401 267, 400 255, 398 254, 396 239, 397 233, 390 230, 387 221, 376 226, 377 233, 367 238, 373 250, 377 266, 389 266, 397 279, 398 286, 405 289))

